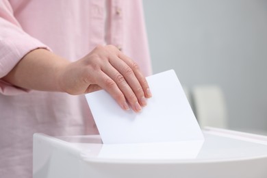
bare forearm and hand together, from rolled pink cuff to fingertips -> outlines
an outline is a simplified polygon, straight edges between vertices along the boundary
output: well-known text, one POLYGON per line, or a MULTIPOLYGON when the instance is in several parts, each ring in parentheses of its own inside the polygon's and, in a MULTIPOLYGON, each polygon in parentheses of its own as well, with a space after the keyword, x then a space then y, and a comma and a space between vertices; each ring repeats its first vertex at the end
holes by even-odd
POLYGON ((124 110, 140 112, 151 92, 138 65, 116 47, 99 46, 77 62, 46 49, 30 51, 2 78, 22 88, 84 94, 103 88, 124 110), (129 103, 129 105, 128 105, 129 103))

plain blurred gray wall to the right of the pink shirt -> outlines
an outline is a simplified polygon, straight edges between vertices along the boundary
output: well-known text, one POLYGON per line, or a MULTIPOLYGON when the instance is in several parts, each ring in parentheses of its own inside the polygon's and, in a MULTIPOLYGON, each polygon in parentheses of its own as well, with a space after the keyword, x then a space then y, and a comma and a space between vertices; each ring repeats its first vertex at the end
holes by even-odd
POLYGON ((144 0, 153 73, 223 89, 231 129, 267 131, 267 1, 144 0))

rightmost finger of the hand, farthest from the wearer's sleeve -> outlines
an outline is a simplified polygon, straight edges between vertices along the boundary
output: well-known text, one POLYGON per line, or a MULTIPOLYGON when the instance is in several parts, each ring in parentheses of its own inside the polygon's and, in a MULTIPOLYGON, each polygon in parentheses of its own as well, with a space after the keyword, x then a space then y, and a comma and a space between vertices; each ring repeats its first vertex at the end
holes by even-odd
POLYGON ((127 57, 127 55, 123 53, 119 53, 118 58, 123 60, 123 62, 125 62, 128 66, 131 67, 134 75, 136 75, 136 78, 138 79, 140 85, 142 86, 145 97, 146 98, 152 97, 151 90, 149 89, 149 84, 147 83, 147 79, 144 77, 144 75, 142 75, 142 72, 140 71, 138 64, 136 64, 136 62, 133 62, 131 58, 127 57))

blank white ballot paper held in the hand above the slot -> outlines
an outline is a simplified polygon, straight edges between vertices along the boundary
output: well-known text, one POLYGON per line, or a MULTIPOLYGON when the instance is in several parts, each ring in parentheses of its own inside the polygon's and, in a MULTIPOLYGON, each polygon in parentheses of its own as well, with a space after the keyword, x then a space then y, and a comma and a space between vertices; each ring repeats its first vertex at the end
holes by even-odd
POLYGON ((152 97, 142 112, 123 110, 105 90, 86 94, 104 144, 203 140, 175 71, 147 77, 152 97))

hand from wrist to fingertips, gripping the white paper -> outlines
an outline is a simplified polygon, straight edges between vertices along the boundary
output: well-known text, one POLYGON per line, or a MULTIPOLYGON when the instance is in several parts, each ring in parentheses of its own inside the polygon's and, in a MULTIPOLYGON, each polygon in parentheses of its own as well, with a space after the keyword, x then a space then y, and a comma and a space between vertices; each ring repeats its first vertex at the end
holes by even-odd
POLYGON ((130 105, 140 112, 151 97, 138 65, 112 45, 96 47, 81 60, 64 66, 58 76, 64 92, 83 94, 103 88, 123 110, 130 105))

